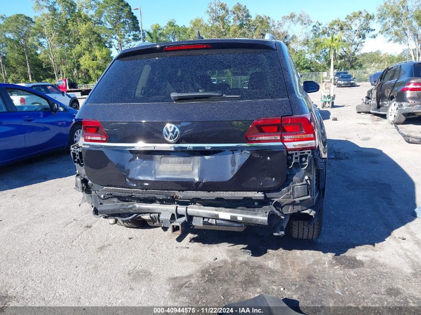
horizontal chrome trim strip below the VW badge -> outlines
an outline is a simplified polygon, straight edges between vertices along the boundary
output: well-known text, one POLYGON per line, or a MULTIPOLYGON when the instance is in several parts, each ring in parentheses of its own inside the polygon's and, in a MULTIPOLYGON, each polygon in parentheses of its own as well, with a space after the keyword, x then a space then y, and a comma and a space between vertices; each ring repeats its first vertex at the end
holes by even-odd
POLYGON ((84 149, 93 150, 156 150, 156 151, 209 151, 209 150, 285 150, 280 142, 267 143, 214 143, 214 144, 171 144, 171 143, 81 143, 84 149))

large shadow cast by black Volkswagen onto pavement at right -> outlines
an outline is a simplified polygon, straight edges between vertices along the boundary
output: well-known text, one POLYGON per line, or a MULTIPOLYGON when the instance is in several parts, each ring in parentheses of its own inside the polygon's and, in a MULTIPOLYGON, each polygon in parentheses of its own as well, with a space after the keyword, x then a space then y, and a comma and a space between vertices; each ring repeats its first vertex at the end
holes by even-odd
POLYGON ((268 228, 250 226, 243 232, 197 229, 190 241, 244 245, 241 250, 252 256, 279 249, 337 256, 352 248, 381 243, 394 230, 416 219, 412 215, 416 208, 415 184, 393 159, 381 150, 359 147, 346 140, 329 140, 329 149, 335 151, 335 158, 328 160, 323 232, 319 239, 276 237, 268 228))

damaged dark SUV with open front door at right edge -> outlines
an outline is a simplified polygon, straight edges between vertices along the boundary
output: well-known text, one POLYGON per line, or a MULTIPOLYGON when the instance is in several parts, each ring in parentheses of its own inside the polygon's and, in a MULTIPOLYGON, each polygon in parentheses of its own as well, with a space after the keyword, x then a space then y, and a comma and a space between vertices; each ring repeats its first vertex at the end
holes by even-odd
POLYGON ((421 62, 405 61, 386 68, 356 110, 386 114, 388 122, 395 124, 421 116, 421 62))

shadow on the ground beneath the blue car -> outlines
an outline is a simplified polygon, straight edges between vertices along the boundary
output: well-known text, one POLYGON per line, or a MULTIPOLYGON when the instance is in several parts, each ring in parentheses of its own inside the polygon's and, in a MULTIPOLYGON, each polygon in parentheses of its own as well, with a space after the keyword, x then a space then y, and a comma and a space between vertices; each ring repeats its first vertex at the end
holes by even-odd
POLYGON ((75 171, 69 151, 50 152, 0 167, 0 191, 68 177, 75 171))

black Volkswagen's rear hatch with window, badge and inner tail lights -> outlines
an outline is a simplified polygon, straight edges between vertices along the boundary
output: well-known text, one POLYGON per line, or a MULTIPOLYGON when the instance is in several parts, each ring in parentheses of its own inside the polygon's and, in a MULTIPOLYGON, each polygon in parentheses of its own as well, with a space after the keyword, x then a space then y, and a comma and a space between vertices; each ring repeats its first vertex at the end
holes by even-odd
POLYGON ((91 119, 82 144, 89 180, 177 191, 281 187, 280 117, 292 111, 273 42, 170 47, 120 54, 81 107, 78 117, 91 119), (251 128, 263 117, 278 118, 251 128))

